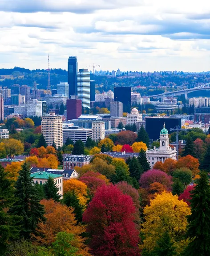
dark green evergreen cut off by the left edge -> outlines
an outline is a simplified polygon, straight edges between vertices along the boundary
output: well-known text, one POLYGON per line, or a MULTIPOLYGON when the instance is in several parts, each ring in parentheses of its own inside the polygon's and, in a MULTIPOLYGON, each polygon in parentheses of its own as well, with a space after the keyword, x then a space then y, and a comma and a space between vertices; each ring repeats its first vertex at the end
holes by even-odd
POLYGON ((14 203, 14 188, 12 181, 7 179, 7 173, 0 164, 0 255, 4 255, 10 239, 18 238, 19 229, 16 225, 18 216, 10 215, 6 210, 14 203))

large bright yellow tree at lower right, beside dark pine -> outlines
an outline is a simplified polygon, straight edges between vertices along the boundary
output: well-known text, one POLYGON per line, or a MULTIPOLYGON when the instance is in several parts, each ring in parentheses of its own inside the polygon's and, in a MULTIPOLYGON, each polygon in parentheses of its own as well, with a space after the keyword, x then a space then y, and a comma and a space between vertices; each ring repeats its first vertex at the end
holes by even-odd
POLYGON ((179 201, 177 195, 173 196, 172 193, 164 191, 150 200, 150 206, 145 207, 144 215, 145 222, 142 224, 141 232, 145 239, 140 246, 141 249, 152 252, 157 245, 156 242, 167 231, 176 247, 176 255, 181 255, 188 243, 188 240, 184 239, 186 216, 190 215, 190 208, 186 202, 179 201))

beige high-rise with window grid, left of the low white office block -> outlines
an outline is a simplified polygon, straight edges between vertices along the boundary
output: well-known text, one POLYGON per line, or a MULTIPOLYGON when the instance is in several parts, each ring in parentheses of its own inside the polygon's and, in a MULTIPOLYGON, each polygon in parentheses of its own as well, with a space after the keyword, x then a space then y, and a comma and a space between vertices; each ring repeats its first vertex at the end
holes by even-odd
POLYGON ((53 141, 56 147, 63 146, 63 124, 62 116, 50 112, 42 117, 41 120, 41 133, 44 135, 46 143, 51 146, 53 141))

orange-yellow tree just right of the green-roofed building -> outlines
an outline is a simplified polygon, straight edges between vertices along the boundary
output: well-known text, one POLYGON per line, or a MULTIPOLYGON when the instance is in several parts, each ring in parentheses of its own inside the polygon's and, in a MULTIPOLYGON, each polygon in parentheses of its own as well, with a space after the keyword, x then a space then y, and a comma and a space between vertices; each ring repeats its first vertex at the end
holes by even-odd
POLYGON ((77 179, 65 180, 63 185, 63 192, 74 191, 82 206, 87 203, 87 185, 77 179))

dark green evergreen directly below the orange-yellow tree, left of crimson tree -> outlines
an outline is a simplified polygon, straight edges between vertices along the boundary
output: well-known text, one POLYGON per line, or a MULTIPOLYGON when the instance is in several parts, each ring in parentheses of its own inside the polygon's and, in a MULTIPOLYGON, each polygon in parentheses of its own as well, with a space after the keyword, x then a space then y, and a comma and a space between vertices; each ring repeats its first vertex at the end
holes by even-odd
POLYGON ((73 213, 77 219, 78 223, 82 222, 82 213, 83 208, 80 204, 80 201, 74 191, 69 191, 64 194, 63 203, 68 207, 73 207, 73 213))

